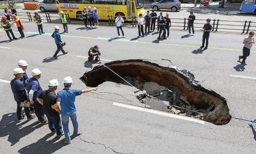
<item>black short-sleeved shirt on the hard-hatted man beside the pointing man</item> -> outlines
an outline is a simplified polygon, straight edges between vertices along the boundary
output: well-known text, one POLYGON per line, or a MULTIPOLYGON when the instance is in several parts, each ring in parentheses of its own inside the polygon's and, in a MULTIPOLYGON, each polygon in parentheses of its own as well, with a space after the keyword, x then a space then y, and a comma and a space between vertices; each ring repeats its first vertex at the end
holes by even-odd
POLYGON ((52 109, 52 105, 56 104, 57 96, 56 93, 43 90, 41 94, 39 94, 38 99, 43 99, 43 112, 48 116, 55 116, 59 115, 59 112, 52 109))

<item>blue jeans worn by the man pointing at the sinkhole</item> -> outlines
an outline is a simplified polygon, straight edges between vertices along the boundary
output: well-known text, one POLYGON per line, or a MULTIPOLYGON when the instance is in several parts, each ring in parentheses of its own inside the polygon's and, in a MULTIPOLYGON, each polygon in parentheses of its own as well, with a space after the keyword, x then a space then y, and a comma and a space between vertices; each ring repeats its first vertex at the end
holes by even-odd
POLYGON ((78 134, 78 123, 76 121, 76 112, 71 114, 61 114, 61 122, 63 125, 63 130, 65 134, 65 140, 69 142, 71 140, 70 133, 69 133, 69 117, 71 118, 73 127, 74 127, 74 134, 78 134))

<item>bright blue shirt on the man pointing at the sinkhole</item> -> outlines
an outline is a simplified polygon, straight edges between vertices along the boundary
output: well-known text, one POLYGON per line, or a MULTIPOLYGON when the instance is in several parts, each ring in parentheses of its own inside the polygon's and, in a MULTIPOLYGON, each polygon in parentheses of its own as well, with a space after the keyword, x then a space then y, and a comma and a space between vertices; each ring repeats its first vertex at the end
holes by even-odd
POLYGON ((82 94, 82 90, 63 89, 57 93, 57 102, 60 102, 61 114, 67 115, 74 113, 75 96, 82 94))

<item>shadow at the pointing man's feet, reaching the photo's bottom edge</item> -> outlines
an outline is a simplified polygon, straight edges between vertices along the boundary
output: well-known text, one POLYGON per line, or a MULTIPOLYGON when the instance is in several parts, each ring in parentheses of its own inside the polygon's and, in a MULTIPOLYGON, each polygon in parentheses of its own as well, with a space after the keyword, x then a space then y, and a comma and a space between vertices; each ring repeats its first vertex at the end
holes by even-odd
POLYGON ((39 139, 36 143, 29 144, 19 149, 18 153, 20 154, 40 154, 40 153, 52 154, 57 150, 61 149, 62 147, 64 147, 65 145, 67 145, 67 144, 64 144, 63 141, 57 137, 54 137, 51 140, 47 140, 51 136, 52 136, 51 134, 45 135, 42 139, 39 139))

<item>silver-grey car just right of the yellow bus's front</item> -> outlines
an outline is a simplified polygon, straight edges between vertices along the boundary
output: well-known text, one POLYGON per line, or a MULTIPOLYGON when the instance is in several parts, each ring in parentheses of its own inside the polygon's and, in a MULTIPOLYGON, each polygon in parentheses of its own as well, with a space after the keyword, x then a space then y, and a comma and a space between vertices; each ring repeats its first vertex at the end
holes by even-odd
POLYGON ((151 4, 153 10, 168 9, 173 12, 181 9, 181 2, 179 0, 161 0, 151 4))

